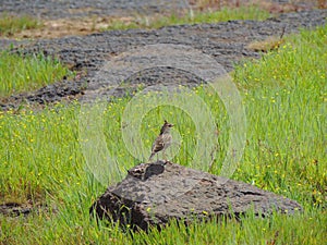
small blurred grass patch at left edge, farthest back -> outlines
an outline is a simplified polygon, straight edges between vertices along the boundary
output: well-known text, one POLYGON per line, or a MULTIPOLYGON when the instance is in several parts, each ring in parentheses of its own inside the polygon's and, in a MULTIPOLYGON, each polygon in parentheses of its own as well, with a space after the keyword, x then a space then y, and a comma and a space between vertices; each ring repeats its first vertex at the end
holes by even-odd
POLYGON ((8 13, 0 15, 0 36, 11 36, 24 29, 38 28, 40 23, 28 15, 13 16, 8 13))

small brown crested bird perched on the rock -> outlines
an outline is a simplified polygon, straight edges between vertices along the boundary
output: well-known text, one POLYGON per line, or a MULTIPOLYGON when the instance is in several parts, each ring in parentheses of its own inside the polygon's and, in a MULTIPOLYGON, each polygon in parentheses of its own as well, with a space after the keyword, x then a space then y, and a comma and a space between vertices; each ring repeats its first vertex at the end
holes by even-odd
POLYGON ((172 136, 170 134, 170 128, 173 127, 173 124, 167 122, 165 120, 165 123, 160 130, 159 136, 156 138, 156 140, 153 144, 152 147, 152 155, 149 157, 149 161, 153 159, 153 157, 162 150, 162 156, 166 159, 165 150, 167 147, 171 145, 172 136))

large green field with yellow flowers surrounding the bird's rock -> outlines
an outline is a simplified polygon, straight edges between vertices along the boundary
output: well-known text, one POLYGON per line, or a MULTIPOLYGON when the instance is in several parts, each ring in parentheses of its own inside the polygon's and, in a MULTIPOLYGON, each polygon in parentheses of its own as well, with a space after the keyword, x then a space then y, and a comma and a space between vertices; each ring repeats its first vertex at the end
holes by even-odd
MULTIPOLYGON (((292 217, 252 213, 234 219, 171 223, 161 233, 133 237, 116 224, 89 219, 88 208, 104 193, 88 171, 81 149, 80 103, 58 103, 41 111, 23 108, 0 112, 0 203, 34 203, 38 212, 0 217, 0 244, 324 244, 326 223, 326 63, 327 26, 290 36, 279 50, 237 66, 232 76, 246 110, 247 138, 234 180, 299 201, 304 211, 292 217)), ((211 172, 219 174, 226 154, 228 114, 206 87, 203 98, 216 119, 219 150, 211 172)), ((124 146, 123 111, 130 98, 107 106, 104 120, 109 152, 120 172, 140 162, 124 146), (112 144, 114 143, 114 144, 112 144)), ((137 106, 137 105, 136 105, 137 106)), ((180 132, 182 145, 173 161, 190 166, 199 137, 190 115, 178 108, 159 107, 144 115, 141 132, 146 147, 167 119, 180 132)), ((118 176, 119 177, 119 176, 118 176)), ((108 183, 109 184, 109 183, 108 183)))

